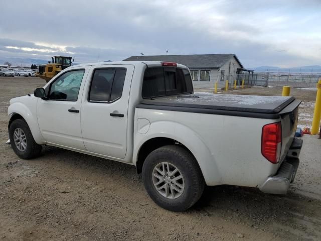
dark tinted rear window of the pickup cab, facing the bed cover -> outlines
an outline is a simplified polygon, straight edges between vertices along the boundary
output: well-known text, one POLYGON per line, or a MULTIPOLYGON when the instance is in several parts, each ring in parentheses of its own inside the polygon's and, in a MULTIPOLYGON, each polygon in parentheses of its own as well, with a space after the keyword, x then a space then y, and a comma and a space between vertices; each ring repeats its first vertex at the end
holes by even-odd
POLYGON ((141 94, 143 98, 192 92, 192 79, 187 69, 154 67, 145 70, 141 94))

